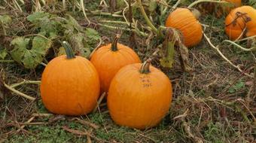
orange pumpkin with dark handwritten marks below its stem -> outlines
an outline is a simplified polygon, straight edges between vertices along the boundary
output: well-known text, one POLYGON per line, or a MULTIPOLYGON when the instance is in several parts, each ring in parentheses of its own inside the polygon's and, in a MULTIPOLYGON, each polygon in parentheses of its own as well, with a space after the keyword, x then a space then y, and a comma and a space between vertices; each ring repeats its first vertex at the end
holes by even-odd
POLYGON ((136 129, 156 126, 169 111, 171 101, 169 78, 149 60, 121 68, 111 81, 107 97, 114 122, 136 129))

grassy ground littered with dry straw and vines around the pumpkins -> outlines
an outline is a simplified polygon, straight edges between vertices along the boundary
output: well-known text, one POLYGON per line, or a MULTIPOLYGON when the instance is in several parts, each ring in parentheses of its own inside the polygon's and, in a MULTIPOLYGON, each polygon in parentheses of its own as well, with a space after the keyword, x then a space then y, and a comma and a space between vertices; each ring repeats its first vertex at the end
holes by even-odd
MULTIPOLYGON (((87 9, 87 17, 92 22, 90 28, 99 32, 103 43, 108 43, 117 32, 113 27, 129 29, 129 26, 126 23, 121 23, 123 26, 120 26, 118 22, 124 22, 123 17, 89 13, 88 11, 96 10, 106 13, 110 11, 108 8, 99 7, 99 2, 99 0, 86 1, 84 7, 87 9), (107 23, 104 20, 117 23, 107 23)), ((118 5, 122 5, 120 1, 118 2, 118 5)), ((187 3, 183 2, 181 5, 187 3)), ((248 5, 252 3, 245 2, 248 5)), ((168 3, 168 5, 174 4, 175 1, 168 3)), ((22 8, 25 7, 20 5, 22 8)), ((12 32, 8 35, 0 34, 0 48, 2 48, 0 51, 6 49, 9 52, 13 48, 10 46, 10 39, 17 35, 35 34, 33 31, 35 29, 26 21, 30 13, 29 9, 24 10, 26 7, 21 13, 12 7, 12 2, 9 5, 0 2, 0 6, 0 15, 9 14, 13 19, 12 32)), ((81 26, 88 28, 82 11, 71 12, 72 6, 69 3, 67 7, 70 11, 65 12, 75 17, 81 26)), ((55 3, 55 10, 52 5, 42 7, 43 11, 63 17, 59 9, 62 9, 62 2, 55 3)), ((114 11, 118 10, 117 8, 114 11)), ((35 11, 35 8, 32 11, 35 11)), ((139 20, 139 28, 145 26, 140 13, 135 12, 134 17, 139 20)), ((38 84, 22 84, 15 89, 35 97, 35 101, 18 96, 9 90, 0 89, 0 142, 256 142, 255 53, 245 52, 231 44, 221 42, 228 39, 224 33, 224 16, 216 18, 212 14, 206 14, 200 17, 200 23, 207 25, 204 32, 212 44, 219 45, 221 52, 233 64, 242 65, 242 72, 224 60, 209 45, 206 38, 203 38, 197 46, 189 48, 189 63, 193 71, 184 71, 178 57, 175 57, 172 68, 163 68, 159 64, 159 59, 154 59, 153 65, 168 75, 173 88, 171 108, 158 126, 145 130, 117 126, 111 120, 105 100, 99 105, 98 110, 86 116, 68 117, 50 114, 41 102, 38 84)), ((148 33, 146 29, 144 30, 148 33)), ((129 30, 122 32, 120 42, 130 45, 129 30)), ((148 47, 146 44, 148 36, 136 35, 134 39, 137 46, 133 49, 139 53, 142 60, 154 53, 155 47, 148 47)), ((249 41, 239 42, 243 47, 248 43, 249 41)), ((52 49, 55 47, 56 45, 53 45, 52 49)), ((53 58, 52 49, 47 51, 44 62, 53 58)), ((44 65, 38 65, 33 69, 24 68, 20 63, 13 61, 10 53, 0 61, 2 81, 8 85, 20 83, 24 79, 41 80, 44 65)))

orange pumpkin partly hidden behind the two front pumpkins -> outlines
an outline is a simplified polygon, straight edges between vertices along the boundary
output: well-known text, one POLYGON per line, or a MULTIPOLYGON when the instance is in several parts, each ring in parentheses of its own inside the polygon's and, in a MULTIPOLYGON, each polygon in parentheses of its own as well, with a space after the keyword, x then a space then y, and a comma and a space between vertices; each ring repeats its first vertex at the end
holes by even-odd
POLYGON ((108 92, 111 80, 120 68, 141 62, 139 56, 130 47, 117 43, 119 38, 120 35, 117 35, 111 44, 99 47, 90 59, 99 73, 102 92, 108 92))

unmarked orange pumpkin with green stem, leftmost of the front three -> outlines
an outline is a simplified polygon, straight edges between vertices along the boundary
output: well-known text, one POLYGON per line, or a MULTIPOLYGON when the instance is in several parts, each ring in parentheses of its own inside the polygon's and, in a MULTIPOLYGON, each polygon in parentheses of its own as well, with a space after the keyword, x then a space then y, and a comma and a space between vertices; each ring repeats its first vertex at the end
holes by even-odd
POLYGON ((41 98, 44 106, 55 114, 87 114, 99 98, 99 75, 93 64, 75 56, 64 41, 66 55, 57 56, 44 68, 41 98))

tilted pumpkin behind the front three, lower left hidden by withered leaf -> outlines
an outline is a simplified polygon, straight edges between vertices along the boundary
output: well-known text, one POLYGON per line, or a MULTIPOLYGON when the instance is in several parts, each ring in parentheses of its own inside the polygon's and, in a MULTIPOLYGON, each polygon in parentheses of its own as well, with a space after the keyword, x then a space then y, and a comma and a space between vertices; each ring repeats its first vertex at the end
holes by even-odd
POLYGON ((166 20, 166 27, 172 27, 181 31, 184 44, 187 47, 197 45, 203 36, 202 26, 197 18, 187 8, 177 8, 166 20))

